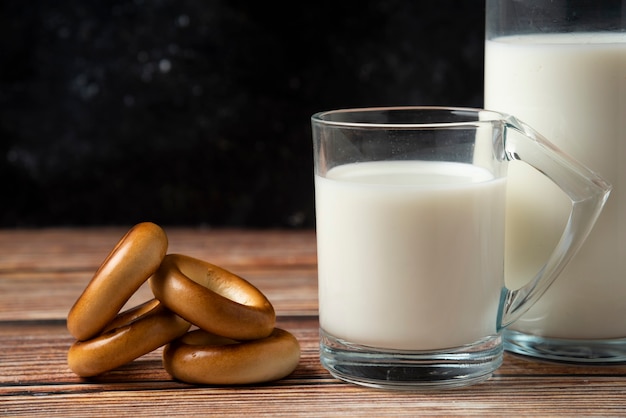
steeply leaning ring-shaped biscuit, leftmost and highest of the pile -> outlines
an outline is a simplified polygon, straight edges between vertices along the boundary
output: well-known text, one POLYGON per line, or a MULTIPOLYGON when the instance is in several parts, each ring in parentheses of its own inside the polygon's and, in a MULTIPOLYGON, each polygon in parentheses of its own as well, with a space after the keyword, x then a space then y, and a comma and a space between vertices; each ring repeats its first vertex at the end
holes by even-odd
POLYGON ((160 226, 143 222, 131 228, 102 262, 70 309, 67 329, 77 340, 102 332, 124 304, 159 267, 167 252, 160 226))

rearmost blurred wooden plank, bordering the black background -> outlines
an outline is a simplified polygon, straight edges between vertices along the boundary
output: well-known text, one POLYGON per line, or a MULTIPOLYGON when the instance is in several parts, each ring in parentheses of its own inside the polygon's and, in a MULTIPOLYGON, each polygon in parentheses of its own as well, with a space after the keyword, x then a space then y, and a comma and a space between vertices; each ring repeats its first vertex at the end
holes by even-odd
MULTIPOLYGON (((236 231, 164 227, 168 253, 235 266, 314 266, 313 231, 236 231)), ((126 228, 0 230, 0 273, 94 272, 126 228)))

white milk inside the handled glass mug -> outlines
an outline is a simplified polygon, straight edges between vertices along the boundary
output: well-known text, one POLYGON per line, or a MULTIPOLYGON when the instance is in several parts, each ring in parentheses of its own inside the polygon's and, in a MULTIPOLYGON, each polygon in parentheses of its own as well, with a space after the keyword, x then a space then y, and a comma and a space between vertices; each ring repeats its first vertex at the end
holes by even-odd
POLYGON ((367 162, 316 176, 320 326, 431 350, 496 333, 505 180, 462 163, 367 162))

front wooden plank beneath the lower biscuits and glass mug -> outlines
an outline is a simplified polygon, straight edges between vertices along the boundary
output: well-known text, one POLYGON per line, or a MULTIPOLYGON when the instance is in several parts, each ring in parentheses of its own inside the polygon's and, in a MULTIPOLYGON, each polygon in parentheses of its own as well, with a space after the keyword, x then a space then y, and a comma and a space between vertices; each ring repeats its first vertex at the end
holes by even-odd
POLYGON ((61 321, 0 324, 0 414, 11 416, 401 416, 613 415, 626 413, 623 368, 562 369, 507 355, 489 381, 439 392, 389 392, 341 383, 318 360, 317 320, 279 318, 302 346, 286 379, 243 387, 202 387, 172 380, 160 350, 97 379, 80 379, 65 365, 71 337, 61 321), (28 367, 28 365, 32 365, 28 367), (524 373, 523 370, 529 370, 524 373), (574 370, 575 373, 570 374, 574 370), (601 399, 602 412, 598 402, 601 399), (131 412, 132 411, 132 412, 131 412))

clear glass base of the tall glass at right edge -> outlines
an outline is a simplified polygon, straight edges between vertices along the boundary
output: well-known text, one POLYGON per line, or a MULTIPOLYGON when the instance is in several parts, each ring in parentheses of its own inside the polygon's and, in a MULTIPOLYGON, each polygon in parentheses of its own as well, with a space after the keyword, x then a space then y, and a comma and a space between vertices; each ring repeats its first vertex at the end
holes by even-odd
POLYGON ((568 363, 626 362, 626 338, 569 340, 506 330, 504 348, 515 354, 568 363))

